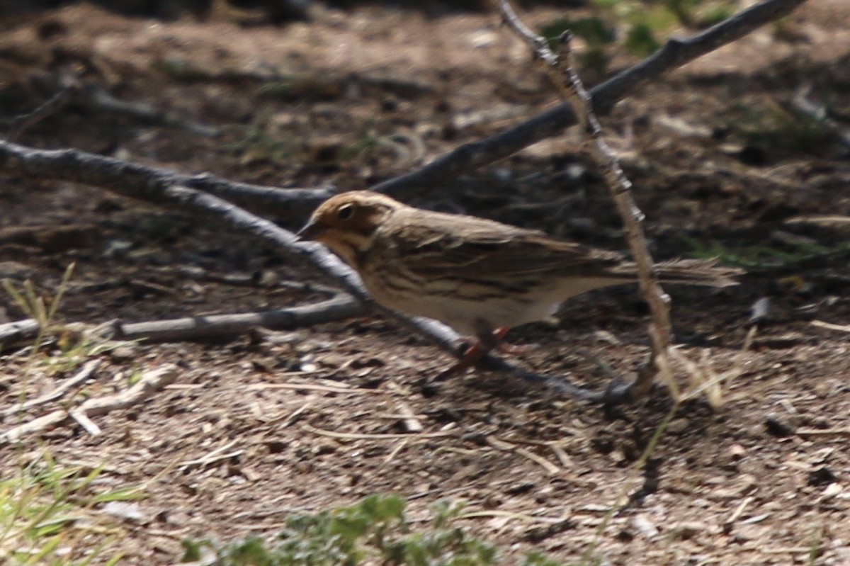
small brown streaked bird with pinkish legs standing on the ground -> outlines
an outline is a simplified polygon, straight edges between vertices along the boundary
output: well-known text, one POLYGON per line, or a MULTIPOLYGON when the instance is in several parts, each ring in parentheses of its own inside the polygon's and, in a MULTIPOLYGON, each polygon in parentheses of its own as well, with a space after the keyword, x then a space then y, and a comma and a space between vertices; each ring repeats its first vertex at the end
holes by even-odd
MULTIPOLYGON (((356 269, 377 303, 478 338, 445 373, 473 365, 500 345, 508 328, 547 319, 565 299, 638 277, 635 264, 615 252, 409 207, 368 190, 331 197, 297 235, 320 241, 356 269)), ((696 259, 655 269, 668 283, 717 287, 735 285, 741 273, 696 259)))

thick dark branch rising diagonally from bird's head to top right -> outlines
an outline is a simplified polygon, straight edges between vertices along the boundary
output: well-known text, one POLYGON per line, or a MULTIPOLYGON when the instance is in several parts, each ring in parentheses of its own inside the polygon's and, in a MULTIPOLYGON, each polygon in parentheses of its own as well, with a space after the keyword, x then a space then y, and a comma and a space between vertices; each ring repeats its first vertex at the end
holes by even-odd
MULTIPOLYGON (((770 21, 791 14, 794 8, 804 2, 806 0, 764 0, 693 37, 667 40, 664 47, 649 58, 592 88, 590 94, 594 112, 604 116, 614 108, 617 101, 639 84, 711 53, 726 43, 734 42, 770 21)), ((490 138, 463 144, 427 166, 388 179, 372 187, 372 190, 403 199, 416 190, 439 186, 447 179, 504 159, 541 139, 557 136, 565 127, 575 123, 575 113, 570 105, 559 105, 490 138)))

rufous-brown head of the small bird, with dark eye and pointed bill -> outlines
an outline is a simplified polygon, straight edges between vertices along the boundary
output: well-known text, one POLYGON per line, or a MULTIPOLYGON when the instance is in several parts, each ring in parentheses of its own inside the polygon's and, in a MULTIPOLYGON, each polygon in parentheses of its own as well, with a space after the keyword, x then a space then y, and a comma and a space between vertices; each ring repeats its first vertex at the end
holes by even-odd
POLYGON ((369 190, 332 196, 313 212, 297 237, 320 241, 356 266, 358 255, 369 249, 377 229, 402 207, 405 205, 399 201, 369 190))

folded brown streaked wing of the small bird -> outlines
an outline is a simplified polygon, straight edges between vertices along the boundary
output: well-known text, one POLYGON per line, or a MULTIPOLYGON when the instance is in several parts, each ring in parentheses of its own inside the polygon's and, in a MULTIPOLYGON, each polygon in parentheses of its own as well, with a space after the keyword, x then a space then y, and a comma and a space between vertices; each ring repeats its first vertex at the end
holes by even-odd
MULTIPOLYGON (((456 219, 454 220, 456 222, 456 219)), ((623 259, 536 230, 467 217, 462 228, 412 223, 395 230, 399 258, 411 275, 480 279, 491 276, 613 275, 623 259)))

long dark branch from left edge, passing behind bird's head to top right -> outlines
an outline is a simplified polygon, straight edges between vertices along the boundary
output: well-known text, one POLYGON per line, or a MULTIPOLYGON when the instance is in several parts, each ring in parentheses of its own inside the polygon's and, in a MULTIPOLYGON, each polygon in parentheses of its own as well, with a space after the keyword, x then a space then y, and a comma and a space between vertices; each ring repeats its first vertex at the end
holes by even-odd
MULTIPOLYGON (((590 93, 594 111, 598 115, 606 114, 638 84, 733 42, 769 21, 790 14, 805 1, 765 0, 694 37, 668 40, 663 48, 648 59, 593 88, 590 93)), ((446 179, 503 159, 541 139, 558 135, 564 127, 573 124, 575 114, 570 105, 560 105, 505 132, 464 144, 425 167, 377 184, 374 190, 403 197, 422 188, 438 186, 446 179)), ((162 188, 179 184, 204 190, 246 206, 263 207, 265 212, 292 217, 311 212, 320 201, 324 201, 333 192, 323 189, 280 190, 234 183, 211 174, 184 175, 77 150, 29 150, 29 159, 19 162, 20 151, 25 149, 0 140, 0 171, 30 178, 91 184, 134 198, 146 198, 144 192, 149 185, 162 188)))

